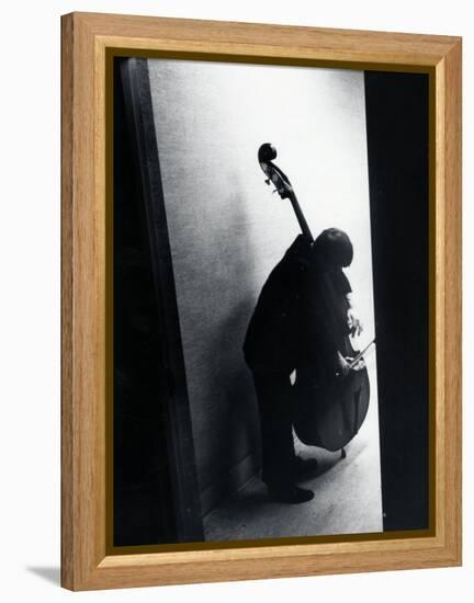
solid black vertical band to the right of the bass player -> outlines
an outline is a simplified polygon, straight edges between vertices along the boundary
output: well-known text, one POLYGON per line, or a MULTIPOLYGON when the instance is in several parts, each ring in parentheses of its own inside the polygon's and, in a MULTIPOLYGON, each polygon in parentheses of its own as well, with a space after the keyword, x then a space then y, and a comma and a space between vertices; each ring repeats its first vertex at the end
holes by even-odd
POLYGON ((429 526, 428 78, 365 72, 385 531, 429 526))

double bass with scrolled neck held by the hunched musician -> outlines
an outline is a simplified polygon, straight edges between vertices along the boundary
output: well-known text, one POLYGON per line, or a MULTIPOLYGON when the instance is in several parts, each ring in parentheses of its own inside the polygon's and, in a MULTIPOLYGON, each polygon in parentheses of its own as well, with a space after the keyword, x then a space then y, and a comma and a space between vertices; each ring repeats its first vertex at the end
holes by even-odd
MULTIPOLYGON (((290 179, 274 164, 276 149, 269 143, 260 146, 258 161, 267 175, 266 183, 273 184, 281 198, 290 200, 296 219, 300 224, 303 237, 311 247, 314 243, 312 231, 301 209, 290 179)), ((330 283, 326 285, 330 289, 330 283)), ((346 299, 336 295, 334 291, 326 292, 329 298, 337 300, 334 307, 335 315, 347 316, 348 305, 346 299), (340 305, 342 304, 342 307, 340 305)), ((336 316, 334 317, 336 320, 336 316)), ((357 351, 352 346, 350 327, 341 338, 338 352, 349 364, 347 376, 341 377, 336 372, 327 379, 301 378, 296 374, 293 385, 293 425, 297 437, 307 445, 319 446, 328 451, 341 451, 341 457, 346 457, 345 446, 354 437, 361 428, 370 400, 370 382, 363 355, 371 343, 357 351)), ((297 373, 297 372, 296 372, 297 373)))

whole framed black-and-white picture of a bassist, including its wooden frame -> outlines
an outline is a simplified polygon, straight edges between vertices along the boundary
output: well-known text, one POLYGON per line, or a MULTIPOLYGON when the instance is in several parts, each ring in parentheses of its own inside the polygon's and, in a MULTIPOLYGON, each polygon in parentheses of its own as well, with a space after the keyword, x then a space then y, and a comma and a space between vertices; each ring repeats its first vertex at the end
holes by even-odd
POLYGON ((461 39, 63 18, 61 582, 461 564, 461 39))

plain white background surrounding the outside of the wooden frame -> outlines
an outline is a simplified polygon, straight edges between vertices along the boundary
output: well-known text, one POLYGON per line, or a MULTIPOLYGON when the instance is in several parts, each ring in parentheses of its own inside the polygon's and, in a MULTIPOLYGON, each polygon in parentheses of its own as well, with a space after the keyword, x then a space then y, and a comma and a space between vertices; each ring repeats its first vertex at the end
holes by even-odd
POLYGON ((474 24, 465 0, 59 0, 2 5, 0 593, 23 601, 472 600, 474 24), (71 594, 59 562, 59 14, 72 10, 464 35, 464 567, 71 594), (23 69, 32 66, 31 69, 23 69), (31 568, 36 568, 32 571, 31 568), (47 579, 44 578, 46 576, 47 579))

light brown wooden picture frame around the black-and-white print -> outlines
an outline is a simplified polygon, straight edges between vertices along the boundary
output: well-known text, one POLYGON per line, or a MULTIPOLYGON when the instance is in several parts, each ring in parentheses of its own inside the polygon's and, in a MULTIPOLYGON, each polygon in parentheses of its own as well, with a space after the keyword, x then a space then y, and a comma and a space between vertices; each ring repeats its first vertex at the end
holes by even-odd
POLYGON ((94 13, 65 15, 61 25, 61 584, 88 590, 460 565, 461 38, 94 13), (121 53, 429 75, 428 535, 110 554, 108 89, 110 61, 121 53))

